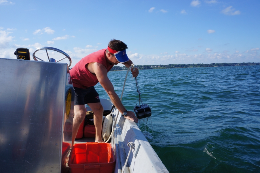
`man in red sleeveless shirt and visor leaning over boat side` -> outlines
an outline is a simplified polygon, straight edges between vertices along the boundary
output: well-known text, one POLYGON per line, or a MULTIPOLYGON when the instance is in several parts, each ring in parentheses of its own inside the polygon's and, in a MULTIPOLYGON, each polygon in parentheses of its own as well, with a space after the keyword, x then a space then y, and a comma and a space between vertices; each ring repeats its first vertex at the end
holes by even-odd
MULTIPOLYGON (((104 142, 101 138, 103 106, 100 104, 98 93, 94 85, 98 82, 103 86, 115 107, 126 119, 138 122, 134 112, 127 111, 114 91, 113 84, 107 77, 107 72, 118 63, 130 67, 132 61, 126 55, 127 46, 120 40, 111 40, 107 49, 98 50, 82 58, 71 70, 70 75, 75 91, 74 119, 72 130, 72 145, 77 136, 80 124, 85 119, 86 109, 84 104, 94 112, 94 124, 96 128, 96 141, 104 142)), ((138 69, 131 69, 134 77, 138 76, 138 69)))

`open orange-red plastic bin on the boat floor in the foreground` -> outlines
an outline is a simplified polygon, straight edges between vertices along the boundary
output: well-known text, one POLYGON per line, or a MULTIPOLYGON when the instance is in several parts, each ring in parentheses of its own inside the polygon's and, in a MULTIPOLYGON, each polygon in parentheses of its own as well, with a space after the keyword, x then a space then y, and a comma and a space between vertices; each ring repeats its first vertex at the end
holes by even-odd
POLYGON ((113 173, 115 157, 111 144, 74 144, 69 156, 71 173, 113 173))

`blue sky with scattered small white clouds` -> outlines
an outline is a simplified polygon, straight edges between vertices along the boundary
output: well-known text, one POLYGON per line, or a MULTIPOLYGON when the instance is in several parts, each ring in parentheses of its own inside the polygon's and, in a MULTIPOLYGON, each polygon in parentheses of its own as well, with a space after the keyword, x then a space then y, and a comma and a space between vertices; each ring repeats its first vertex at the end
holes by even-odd
POLYGON ((49 46, 73 67, 117 39, 135 65, 260 62, 259 8, 259 0, 0 0, 0 58, 23 47, 32 60, 49 46))

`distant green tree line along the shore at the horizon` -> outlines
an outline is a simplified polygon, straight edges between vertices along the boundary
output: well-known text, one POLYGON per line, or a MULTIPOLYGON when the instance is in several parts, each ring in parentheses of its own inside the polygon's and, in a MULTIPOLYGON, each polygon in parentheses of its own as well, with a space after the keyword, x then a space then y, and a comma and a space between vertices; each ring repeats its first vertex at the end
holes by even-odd
MULTIPOLYGON (((195 68, 195 67, 224 67, 224 66, 245 66, 260 65, 260 63, 211 63, 211 64, 168 64, 168 65, 135 65, 138 69, 165 69, 165 68, 195 68)), ((114 65, 110 71, 127 70, 127 68, 114 65)))

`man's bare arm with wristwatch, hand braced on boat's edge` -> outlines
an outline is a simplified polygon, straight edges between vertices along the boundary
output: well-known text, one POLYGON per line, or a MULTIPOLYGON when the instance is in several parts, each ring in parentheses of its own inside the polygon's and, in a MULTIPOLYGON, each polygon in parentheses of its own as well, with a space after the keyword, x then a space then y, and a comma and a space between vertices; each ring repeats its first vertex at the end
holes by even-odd
MULTIPOLYGON (((120 101, 118 95, 115 93, 114 86, 107 77, 107 69, 104 65, 100 63, 91 63, 92 69, 98 78, 98 82, 103 86, 105 91, 107 92, 109 98, 115 105, 115 107, 121 112, 121 114, 126 110, 123 106, 122 102, 120 101)), ((128 111, 127 115, 125 116, 126 119, 130 119, 131 121, 138 122, 138 119, 134 115, 134 112, 128 111)))

